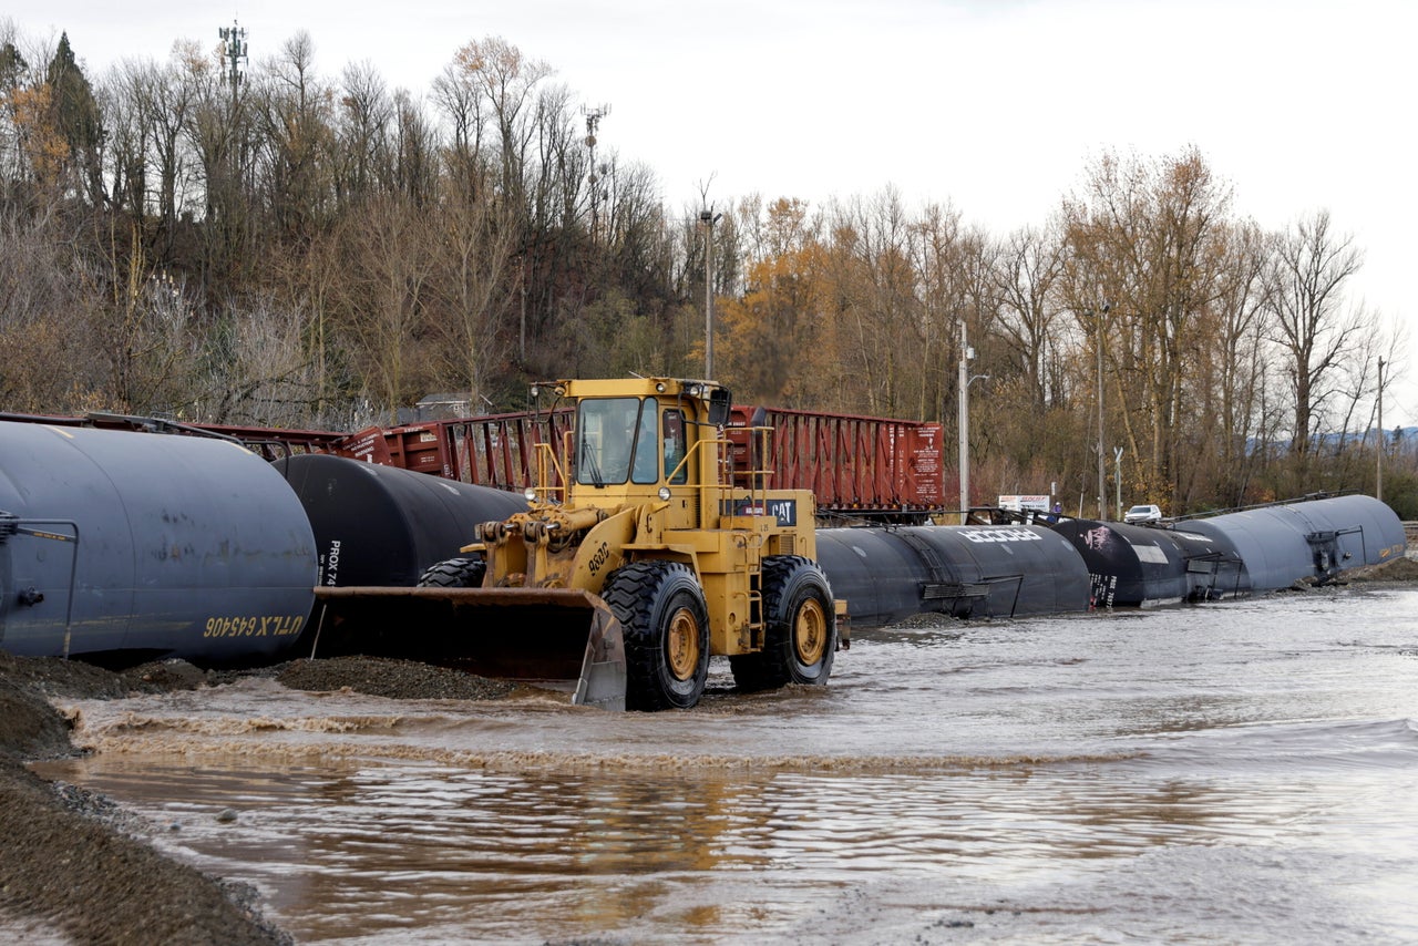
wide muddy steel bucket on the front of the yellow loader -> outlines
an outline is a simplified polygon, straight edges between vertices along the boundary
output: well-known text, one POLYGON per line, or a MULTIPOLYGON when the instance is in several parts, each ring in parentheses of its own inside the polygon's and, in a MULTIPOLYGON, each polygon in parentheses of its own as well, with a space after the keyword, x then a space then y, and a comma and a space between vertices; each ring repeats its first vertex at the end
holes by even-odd
POLYGON ((620 621, 581 589, 319 587, 312 657, 364 654, 454 667, 625 709, 620 621))

